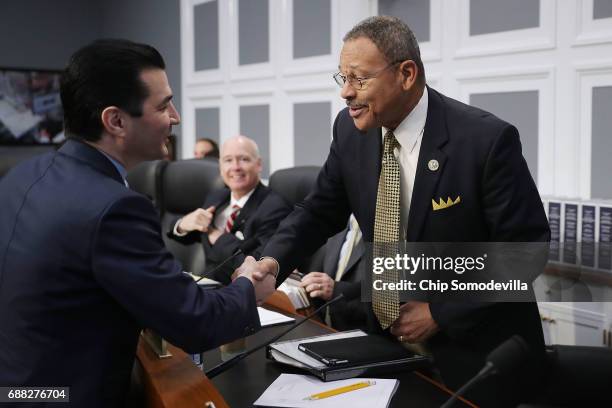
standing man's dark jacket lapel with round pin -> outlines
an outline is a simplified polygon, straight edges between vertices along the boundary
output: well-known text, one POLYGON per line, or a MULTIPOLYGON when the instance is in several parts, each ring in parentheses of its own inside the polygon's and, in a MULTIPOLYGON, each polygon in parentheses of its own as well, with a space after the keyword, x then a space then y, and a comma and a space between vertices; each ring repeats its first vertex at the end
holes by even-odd
POLYGON ((448 140, 444 105, 436 91, 429 87, 427 89, 429 91, 427 120, 425 121, 425 131, 421 141, 414 189, 410 202, 408 231, 406 234, 408 241, 418 241, 421 236, 425 219, 431 211, 431 199, 444 172, 444 164, 447 160, 446 154, 440 150, 440 147, 448 140), (430 170, 429 163, 432 160, 437 161, 437 170, 430 170))

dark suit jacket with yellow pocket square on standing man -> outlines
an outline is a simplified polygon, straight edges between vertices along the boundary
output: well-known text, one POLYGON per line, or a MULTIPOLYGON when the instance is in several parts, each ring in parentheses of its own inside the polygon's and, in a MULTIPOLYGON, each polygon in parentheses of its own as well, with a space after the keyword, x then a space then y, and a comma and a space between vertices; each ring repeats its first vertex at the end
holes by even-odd
MULTIPOLYGON (((517 129, 488 112, 431 88, 428 91, 407 240, 549 240, 544 208, 521 154, 517 129), (437 171, 429 169, 430 160, 437 160, 437 171), (432 199, 449 196, 461 196, 460 204, 433 211, 432 199)), ((282 282, 294 265, 329 236, 342 230, 351 212, 364 241, 373 241, 381 155, 381 129, 361 132, 348 109, 341 111, 313 192, 281 223, 262 253, 279 261, 277 282, 282 282)), ((540 362, 543 356, 544 340, 535 303, 432 303, 430 310, 440 331, 428 345, 451 387, 459 387, 475 375, 488 352, 513 334, 527 341, 537 354, 534 361, 540 362)), ((372 313, 370 316, 372 330, 380 330, 372 313)))

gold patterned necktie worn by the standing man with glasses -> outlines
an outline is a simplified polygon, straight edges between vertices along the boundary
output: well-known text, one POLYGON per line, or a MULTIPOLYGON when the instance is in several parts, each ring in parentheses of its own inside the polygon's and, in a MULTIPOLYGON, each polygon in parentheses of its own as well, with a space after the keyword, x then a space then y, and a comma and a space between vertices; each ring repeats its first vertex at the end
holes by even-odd
MULTIPOLYGON (((394 258, 400 237, 400 167, 393 153, 400 145, 392 131, 385 134, 382 168, 376 196, 374 219, 374 257, 394 258)), ((399 280, 399 272, 387 270, 379 276, 383 283, 399 280)), ((372 308, 383 329, 399 317, 399 295, 395 290, 373 290, 372 308)))

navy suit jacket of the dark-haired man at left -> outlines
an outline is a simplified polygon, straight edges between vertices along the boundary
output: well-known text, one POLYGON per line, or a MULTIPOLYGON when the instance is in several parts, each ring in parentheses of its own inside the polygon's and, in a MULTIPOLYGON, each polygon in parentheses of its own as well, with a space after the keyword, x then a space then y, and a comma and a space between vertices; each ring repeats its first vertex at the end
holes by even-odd
POLYGON ((69 140, 0 180, 0 386, 122 405, 140 330, 187 352, 259 328, 246 278, 206 291, 165 249, 151 202, 69 140))

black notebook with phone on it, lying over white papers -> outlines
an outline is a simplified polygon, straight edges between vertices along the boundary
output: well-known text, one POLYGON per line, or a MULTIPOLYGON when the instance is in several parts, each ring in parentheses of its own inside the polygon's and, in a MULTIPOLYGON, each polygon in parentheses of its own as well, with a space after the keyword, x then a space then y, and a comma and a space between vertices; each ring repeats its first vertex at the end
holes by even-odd
POLYGON ((414 356, 398 342, 377 335, 300 343, 298 349, 329 367, 372 364, 414 356))

